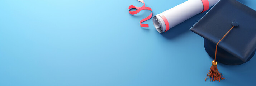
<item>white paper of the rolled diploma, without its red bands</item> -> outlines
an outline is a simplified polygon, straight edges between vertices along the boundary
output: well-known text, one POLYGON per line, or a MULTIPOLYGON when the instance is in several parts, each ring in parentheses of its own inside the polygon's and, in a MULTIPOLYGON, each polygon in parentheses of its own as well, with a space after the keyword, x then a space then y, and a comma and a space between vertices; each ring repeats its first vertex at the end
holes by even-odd
MULTIPOLYGON (((215 5, 219 0, 208 0, 209 7, 215 5)), ((166 24, 162 18, 165 16, 169 23, 169 29, 184 22, 185 20, 201 13, 204 10, 204 5, 201 0, 188 0, 181 3, 163 13, 153 17, 153 24, 159 33, 166 31, 166 24)))

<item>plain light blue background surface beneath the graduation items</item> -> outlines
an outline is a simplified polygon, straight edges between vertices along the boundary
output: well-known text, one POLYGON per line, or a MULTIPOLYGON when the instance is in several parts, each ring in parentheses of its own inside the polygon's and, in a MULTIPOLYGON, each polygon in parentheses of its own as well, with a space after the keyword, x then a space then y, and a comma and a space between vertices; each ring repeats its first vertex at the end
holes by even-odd
MULTIPOLYGON (((186 0, 145 0, 153 16, 186 0)), ((255 0, 238 0, 256 9, 255 0)), ((0 0, 0 86, 255 85, 256 56, 219 63, 210 82, 203 38, 189 29, 207 12, 158 33, 137 0, 0 0)))

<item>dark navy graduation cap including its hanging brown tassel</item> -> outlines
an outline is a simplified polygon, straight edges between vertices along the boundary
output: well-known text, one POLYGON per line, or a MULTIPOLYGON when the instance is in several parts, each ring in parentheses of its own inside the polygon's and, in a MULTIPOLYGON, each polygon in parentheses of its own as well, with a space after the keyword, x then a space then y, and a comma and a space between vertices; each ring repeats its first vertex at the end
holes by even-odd
POLYGON ((220 0, 190 30, 204 38, 205 50, 214 59, 210 81, 224 79, 217 62, 240 65, 255 54, 256 11, 239 1, 220 0))

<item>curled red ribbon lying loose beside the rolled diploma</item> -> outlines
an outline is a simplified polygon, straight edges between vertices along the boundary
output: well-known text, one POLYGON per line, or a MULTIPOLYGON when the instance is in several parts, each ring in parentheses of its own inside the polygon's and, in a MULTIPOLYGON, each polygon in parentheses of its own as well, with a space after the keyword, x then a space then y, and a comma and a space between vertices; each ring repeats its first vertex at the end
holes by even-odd
POLYGON ((142 19, 141 21, 139 21, 139 24, 141 25, 141 27, 148 27, 148 24, 141 24, 141 23, 144 22, 144 21, 146 21, 146 20, 148 20, 148 19, 150 19, 150 18, 152 17, 152 15, 153 15, 152 9, 151 9, 150 7, 146 7, 145 2, 144 2, 143 0, 138 0, 138 1, 141 2, 141 3, 143 3, 144 5, 141 6, 141 7, 130 5, 129 8, 128 8, 129 13, 132 14, 132 15, 134 15, 134 14, 139 13, 141 10, 150 10, 150 11, 151 11, 151 14, 150 14, 149 16, 147 16, 146 18, 142 19), (137 9, 137 10, 135 10, 135 11, 130 11, 130 9, 132 9, 132 8, 135 8, 135 9, 137 9))

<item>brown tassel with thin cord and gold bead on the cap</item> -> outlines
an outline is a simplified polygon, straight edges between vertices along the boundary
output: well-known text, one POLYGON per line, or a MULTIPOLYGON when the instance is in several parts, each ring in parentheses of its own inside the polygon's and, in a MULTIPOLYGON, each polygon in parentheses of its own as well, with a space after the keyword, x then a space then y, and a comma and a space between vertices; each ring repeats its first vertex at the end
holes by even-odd
MULTIPOLYGON (((228 32, 221 38, 221 40, 233 29, 233 27, 228 30, 228 32)), ((219 42, 221 42, 221 40, 219 40, 219 42)), ((208 73, 209 75, 207 74, 207 77, 210 78, 210 81, 215 81, 215 80, 220 81, 220 80, 225 79, 225 78, 222 77, 222 74, 219 73, 219 71, 217 69, 217 64, 218 63, 216 61, 216 54, 217 54, 217 47, 218 47, 219 42, 216 44, 215 58, 212 61, 212 66, 211 66, 210 71, 208 73)), ((205 78, 205 81, 206 81, 207 77, 205 78)))

